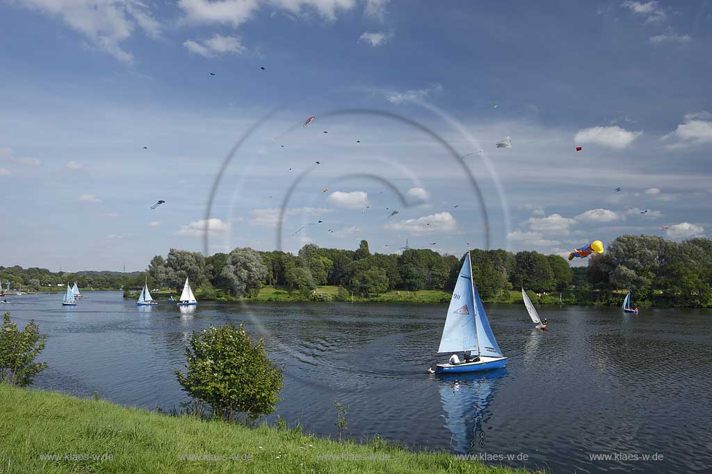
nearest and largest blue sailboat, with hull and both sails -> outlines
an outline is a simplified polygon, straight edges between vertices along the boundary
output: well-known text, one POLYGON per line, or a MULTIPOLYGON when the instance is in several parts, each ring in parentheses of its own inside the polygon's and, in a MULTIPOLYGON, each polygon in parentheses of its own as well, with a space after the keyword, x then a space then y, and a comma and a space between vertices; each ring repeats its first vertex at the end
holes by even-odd
POLYGON ((452 354, 448 363, 435 366, 438 374, 498 369, 507 364, 507 357, 497 345, 477 292, 470 249, 467 249, 452 293, 438 352, 452 354), (466 352, 464 361, 460 361, 456 352, 466 352))

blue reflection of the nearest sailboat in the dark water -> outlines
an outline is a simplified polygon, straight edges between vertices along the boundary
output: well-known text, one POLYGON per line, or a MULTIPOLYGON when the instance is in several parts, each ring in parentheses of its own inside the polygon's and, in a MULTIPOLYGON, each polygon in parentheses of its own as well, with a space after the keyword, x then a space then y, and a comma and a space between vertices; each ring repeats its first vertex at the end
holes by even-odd
POLYGON ((486 445, 486 424, 499 379, 507 369, 477 374, 444 375, 440 386, 445 427, 452 433, 451 446, 458 453, 471 453, 486 445))

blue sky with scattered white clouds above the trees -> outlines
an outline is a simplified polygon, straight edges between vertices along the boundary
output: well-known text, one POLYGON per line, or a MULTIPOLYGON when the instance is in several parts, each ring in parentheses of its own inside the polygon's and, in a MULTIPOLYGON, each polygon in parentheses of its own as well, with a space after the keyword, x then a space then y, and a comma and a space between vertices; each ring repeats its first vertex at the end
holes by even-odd
POLYGON ((711 1, 0 0, 0 45, 3 266, 711 234, 711 1))

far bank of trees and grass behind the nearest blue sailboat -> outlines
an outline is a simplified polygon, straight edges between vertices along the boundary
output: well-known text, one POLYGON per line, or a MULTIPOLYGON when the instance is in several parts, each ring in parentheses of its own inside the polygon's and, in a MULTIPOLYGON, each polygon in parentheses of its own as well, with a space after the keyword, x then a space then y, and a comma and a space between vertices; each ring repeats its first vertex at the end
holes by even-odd
MULTIPOLYGON (((630 288, 638 304, 712 306, 710 239, 622 235, 587 267, 573 269, 559 255, 539 252, 473 249, 471 255, 478 291, 490 303, 520 302, 523 287, 535 303, 618 305, 630 288)), ((307 244, 297 255, 237 248, 203 257, 171 249, 152 259, 148 275, 152 288, 171 292, 189 277, 201 300, 441 303, 449 301, 461 262, 462 256, 430 249, 372 254, 362 240, 356 250, 307 244)), ((138 291, 142 284, 136 276, 129 286, 138 291)))

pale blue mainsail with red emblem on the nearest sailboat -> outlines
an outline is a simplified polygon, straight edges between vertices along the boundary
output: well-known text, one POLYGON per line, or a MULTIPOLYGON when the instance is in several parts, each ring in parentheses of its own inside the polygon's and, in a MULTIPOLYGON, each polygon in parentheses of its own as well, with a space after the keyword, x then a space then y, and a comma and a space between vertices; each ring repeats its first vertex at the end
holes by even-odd
POLYGON ((474 321, 475 303, 472 289, 470 254, 468 252, 452 292, 438 352, 477 350, 474 321))

